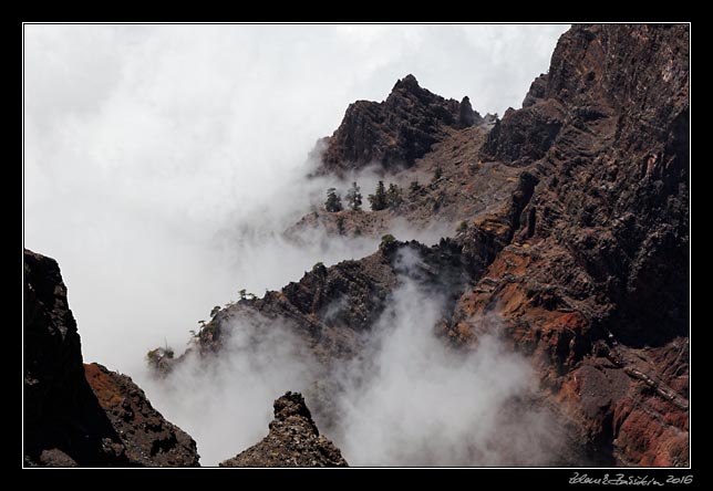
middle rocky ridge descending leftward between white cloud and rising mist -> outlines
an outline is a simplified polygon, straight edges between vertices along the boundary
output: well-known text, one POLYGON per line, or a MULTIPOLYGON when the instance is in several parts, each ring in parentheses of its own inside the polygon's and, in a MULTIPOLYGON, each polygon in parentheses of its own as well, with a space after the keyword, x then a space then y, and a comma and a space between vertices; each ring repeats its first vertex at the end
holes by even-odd
POLYGON ((415 241, 384 242, 372 255, 331 268, 316 264, 299 282, 289 283, 280 292, 267 292, 261 299, 241 300, 220 310, 200 331, 199 349, 219 354, 224 338, 235 328, 234 320, 260 315, 286 321, 328 365, 348 358, 358 353, 360 337, 384 310, 400 273, 441 292, 454 292, 451 305, 468 281, 461 247, 451 240, 432 248, 415 241), (416 254, 422 262, 406 271, 402 265, 404 254, 416 254))

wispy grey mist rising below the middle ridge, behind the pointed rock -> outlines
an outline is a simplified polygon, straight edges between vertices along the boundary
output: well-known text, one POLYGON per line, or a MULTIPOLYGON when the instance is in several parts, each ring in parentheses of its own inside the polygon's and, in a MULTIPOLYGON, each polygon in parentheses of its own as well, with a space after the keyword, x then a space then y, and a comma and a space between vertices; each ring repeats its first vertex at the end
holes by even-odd
MULTIPOLYGON (((396 268, 400 285, 352 359, 326 366, 289 321, 250 313, 224 327, 219 356, 194 352, 142 384, 196 438, 204 466, 262 438, 275 394, 289 388, 306 394, 351 466, 556 463, 566 440, 555 416, 527 401, 537 380, 525 358, 487 334, 454 351, 435 332, 447 292, 425 281, 412 249, 396 268)), ((333 304, 327 311, 345 307, 333 304)))

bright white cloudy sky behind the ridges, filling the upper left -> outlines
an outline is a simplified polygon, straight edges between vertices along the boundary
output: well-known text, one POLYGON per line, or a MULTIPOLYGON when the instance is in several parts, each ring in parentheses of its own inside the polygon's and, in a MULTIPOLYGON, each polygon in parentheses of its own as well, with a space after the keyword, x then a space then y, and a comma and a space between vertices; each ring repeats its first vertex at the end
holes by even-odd
POLYGON ((216 234, 351 102, 412 73, 503 114, 567 28, 25 25, 24 244, 59 261, 85 361, 131 373, 246 282, 298 280, 241 281, 216 234))

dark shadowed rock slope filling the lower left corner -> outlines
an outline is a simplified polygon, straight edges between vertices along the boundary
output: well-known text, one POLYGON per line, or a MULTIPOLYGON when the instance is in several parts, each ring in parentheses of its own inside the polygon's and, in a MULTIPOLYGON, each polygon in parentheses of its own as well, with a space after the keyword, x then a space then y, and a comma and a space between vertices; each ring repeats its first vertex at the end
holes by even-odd
POLYGON ((99 365, 89 365, 90 386, 60 268, 53 259, 27 249, 23 335, 25 466, 135 467, 197 462, 195 442, 154 411, 131 379, 99 365), (124 411, 106 412, 115 405, 124 411), (164 453, 170 432, 179 435, 180 456, 164 453), (153 446, 158 451, 152 455, 153 446), (146 455, 142 455, 143 448, 146 455))

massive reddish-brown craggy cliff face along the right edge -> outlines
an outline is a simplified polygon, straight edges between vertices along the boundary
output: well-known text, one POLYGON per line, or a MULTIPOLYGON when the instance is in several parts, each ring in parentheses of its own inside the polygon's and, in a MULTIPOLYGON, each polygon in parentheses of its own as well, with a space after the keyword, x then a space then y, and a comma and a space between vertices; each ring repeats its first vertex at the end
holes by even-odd
POLYGON ((537 185, 452 335, 497 313, 601 463, 689 462, 688 46, 685 25, 574 27, 482 150, 537 185))

